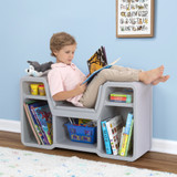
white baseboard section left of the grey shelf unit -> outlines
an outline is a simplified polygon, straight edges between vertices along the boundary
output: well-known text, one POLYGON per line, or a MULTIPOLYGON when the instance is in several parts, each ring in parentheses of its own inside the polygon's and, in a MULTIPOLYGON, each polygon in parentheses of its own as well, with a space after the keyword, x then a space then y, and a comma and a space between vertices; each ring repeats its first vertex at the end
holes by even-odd
POLYGON ((0 131, 21 133, 20 121, 0 119, 0 131))

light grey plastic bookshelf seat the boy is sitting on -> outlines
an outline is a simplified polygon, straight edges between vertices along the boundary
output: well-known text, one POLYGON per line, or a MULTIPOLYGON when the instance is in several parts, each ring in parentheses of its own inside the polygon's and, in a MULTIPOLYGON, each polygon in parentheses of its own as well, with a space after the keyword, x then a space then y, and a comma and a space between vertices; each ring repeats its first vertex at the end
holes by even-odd
POLYGON ((152 146, 152 85, 140 82, 106 82, 100 87, 97 101, 94 108, 75 107, 66 102, 54 102, 50 95, 45 76, 24 76, 20 82, 21 87, 21 140, 25 146, 38 148, 66 148, 82 152, 95 153, 104 158, 133 162, 144 155, 152 146), (45 96, 31 95, 30 84, 43 83, 45 96), (126 91, 132 94, 131 103, 117 103, 110 101, 113 92, 126 91), (23 103, 29 100, 46 101, 52 113, 53 144, 39 145, 28 122, 23 103), (101 122, 107 117, 122 115, 126 122, 127 113, 133 112, 133 153, 127 157, 108 155, 105 152, 101 122), (94 144, 72 142, 64 124, 72 118, 85 118, 96 122, 96 142, 94 144))

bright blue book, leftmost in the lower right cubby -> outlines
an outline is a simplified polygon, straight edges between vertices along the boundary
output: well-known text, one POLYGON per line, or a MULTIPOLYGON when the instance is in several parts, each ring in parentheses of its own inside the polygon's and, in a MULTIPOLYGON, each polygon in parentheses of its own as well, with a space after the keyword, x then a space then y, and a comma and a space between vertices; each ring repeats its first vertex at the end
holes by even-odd
POLYGON ((102 124, 102 132, 103 132, 103 139, 104 139, 106 154, 112 154, 112 147, 111 147, 110 137, 108 137, 108 133, 107 133, 106 122, 107 121, 102 121, 102 123, 101 123, 102 124))

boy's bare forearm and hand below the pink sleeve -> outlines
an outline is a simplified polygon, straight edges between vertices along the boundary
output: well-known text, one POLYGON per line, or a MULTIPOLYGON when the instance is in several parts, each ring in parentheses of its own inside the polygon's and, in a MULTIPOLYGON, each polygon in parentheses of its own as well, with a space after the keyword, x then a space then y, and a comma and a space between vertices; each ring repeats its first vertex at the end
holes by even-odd
POLYGON ((67 98, 82 94, 85 91, 85 88, 86 84, 79 84, 74 90, 59 92, 54 94, 52 97, 54 101, 66 101, 67 98))

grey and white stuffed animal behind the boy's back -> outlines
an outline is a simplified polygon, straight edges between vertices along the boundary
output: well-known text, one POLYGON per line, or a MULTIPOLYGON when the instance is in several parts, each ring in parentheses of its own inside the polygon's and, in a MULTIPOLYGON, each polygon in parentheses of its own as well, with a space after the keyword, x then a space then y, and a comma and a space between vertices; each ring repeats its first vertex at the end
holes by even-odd
POLYGON ((30 63, 30 66, 25 69, 25 73, 31 76, 42 76, 46 74, 51 69, 51 64, 53 64, 53 62, 40 64, 35 61, 28 61, 28 63, 30 63))

